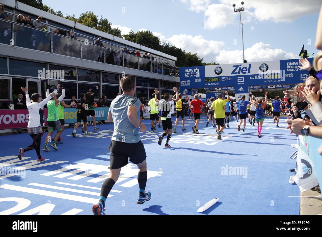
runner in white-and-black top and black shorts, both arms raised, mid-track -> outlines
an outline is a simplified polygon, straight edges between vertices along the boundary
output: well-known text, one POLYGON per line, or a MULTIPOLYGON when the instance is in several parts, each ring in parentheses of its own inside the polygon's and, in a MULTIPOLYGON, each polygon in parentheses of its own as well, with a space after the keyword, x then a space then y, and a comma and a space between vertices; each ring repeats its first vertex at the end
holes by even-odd
POLYGON ((154 89, 154 92, 156 93, 156 97, 155 100, 156 102, 159 102, 159 104, 161 105, 161 121, 162 121, 162 128, 164 133, 162 133, 162 136, 159 137, 159 141, 158 144, 161 146, 162 140, 163 138, 167 136, 166 138, 166 144, 164 147, 170 147, 170 145, 168 144, 171 138, 171 134, 172 134, 172 120, 171 120, 171 109, 172 106, 179 100, 179 94, 178 94, 178 90, 176 87, 173 87, 173 90, 175 92, 175 100, 169 101, 170 100, 170 95, 169 94, 165 94, 164 95, 164 101, 159 101, 157 99, 157 94, 159 93, 158 89, 154 89))

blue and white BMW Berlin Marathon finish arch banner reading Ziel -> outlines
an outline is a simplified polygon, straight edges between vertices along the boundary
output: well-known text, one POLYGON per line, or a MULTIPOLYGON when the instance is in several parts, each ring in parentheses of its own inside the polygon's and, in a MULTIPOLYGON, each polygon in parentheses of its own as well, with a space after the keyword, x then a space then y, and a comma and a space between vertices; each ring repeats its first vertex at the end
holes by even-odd
MULTIPOLYGON (((308 58, 313 63, 313 58, 308 58)), ((246 95, 251 88, 283 89, 287 84, 304 82, 308 71, 298 67, 298 59, 264 61, 240 64, 219 64, 194 67, 180 67, 180 93, 193 95, 197 88, 234 87, 235 97, 246 95), (253 87, 251 87, 253 86, 253 87)))

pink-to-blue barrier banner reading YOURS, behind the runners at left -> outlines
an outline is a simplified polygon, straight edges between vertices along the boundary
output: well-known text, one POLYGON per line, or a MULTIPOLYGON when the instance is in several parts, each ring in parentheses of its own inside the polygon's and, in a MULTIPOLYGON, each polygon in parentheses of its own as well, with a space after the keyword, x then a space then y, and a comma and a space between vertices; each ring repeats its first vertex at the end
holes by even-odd
MULTIPOLYGON (((47 125, 48 109, 43 109, 45 126, 47 125)), ((96 121, 107 120, 109 107, 94 108, 96 121)), ((66 123, 77 123, 77 109, 65 108, 64 119, 66 123)), ((25 128, 29 121, 29 111, 27 109, 4 109, 0 110, 0 129, 25 128)), ((88 121, 93 121, 90 116, 88 121)))

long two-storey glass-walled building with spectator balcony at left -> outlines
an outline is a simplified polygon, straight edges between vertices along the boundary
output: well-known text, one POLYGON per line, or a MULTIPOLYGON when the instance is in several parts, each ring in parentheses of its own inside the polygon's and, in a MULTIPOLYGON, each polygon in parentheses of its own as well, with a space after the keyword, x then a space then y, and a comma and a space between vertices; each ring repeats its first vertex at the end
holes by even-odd
POLYGON ((171 88, 179 85, 175 56, 14 0, 2 4, 8 19, 0 18, 0 109, 22 94, 22 86, 29 94, 44 97, 46 83, 53 87, 63 81, 64 100, 79 99, 79 94, 99 86, 99 97, 112 100, 121 93, 119 81, 124 75, 136 76, 137 97, 150 98, 154 88, 173 94, 171 88), (20 24, 20 14, 31 22, 41 16, 40 23, 46 27, 20 24), (70 32, 75 37, 69 37, 70 32), (124 48, 140 54, 126 53, 124 48), (150 58, 142 57, 146 52, 150 58))

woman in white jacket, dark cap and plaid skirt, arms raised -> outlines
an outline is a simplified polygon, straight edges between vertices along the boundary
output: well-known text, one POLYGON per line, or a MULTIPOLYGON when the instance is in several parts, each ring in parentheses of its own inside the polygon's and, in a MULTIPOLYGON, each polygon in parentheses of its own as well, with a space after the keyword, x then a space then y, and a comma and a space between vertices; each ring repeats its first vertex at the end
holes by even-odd
POLYGON ((33 139, 33 143, 29 145, 27 148, 19 148, 19 160, 22 159, 25 152, 31 151, 33 149, 36 150, 38 156, 37 162, 45 160, 40 155, 41 137, 43 132, 42 126, 44 125, 43 106, 47 104, 47 102, 58 93, 59 88, 60 84, 58 84, 57 89, 55 89, 51 94, 49 94, 43 101, 41 101, 40 94, 34 93, 31 96, 32 101, 30 101, 27 89, 21 87, 21 90, 26 94, 27 108, 29 110, 29 121, 27 130, 29 135, 33 139))

